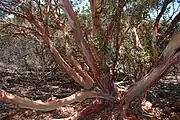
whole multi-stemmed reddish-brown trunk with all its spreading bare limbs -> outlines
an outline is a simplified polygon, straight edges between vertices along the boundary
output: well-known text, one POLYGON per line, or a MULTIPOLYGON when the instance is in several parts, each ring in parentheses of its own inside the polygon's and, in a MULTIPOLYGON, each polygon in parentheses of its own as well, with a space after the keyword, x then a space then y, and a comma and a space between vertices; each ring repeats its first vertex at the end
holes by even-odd
MULTIPOLYGON (((89 114, 90 112, 94 112, 96 110, 98 111, 98 109, 102 108, 102 106, 106 104, 106 101, 108 101, 108 103, 110 104, 116 105, 112 109, 113 113, 111 113, 116 116, 116 115, 119 115, 120 113, 124 113, 125 112, 124 110, 126 110, 126 108, 129 106, 131 101, 133 101, 133 99, 139 97, 147 89, 154 86, 157 83, 157 81, 160 80, 160 78, 166 73, 166 71, 171 65, 179 62, 180 33, 177 32, 171 38, 169 44, 167 45, 167 47, 165 48, 165 50, 163 51, 159 59, 153 64, 153 66, 151 67, 151 70, 149 70, 149 72, 144 77, 142 77, 141 80, 133 84, 126 91, 126 93, 123 94, 123 97, 119 97, 118 90, 116 89, 116 85, 115 85, 114 71, 115 71, 115 66, 117 63, 120 47, 122 45, 122 42, 125 39, 126 32, 128 31, 129 28, 127 28, 127 30, 123 32, 121 40, 119 40, 120 29, 118 27, 115 27, 115 25, 119 25, 119 23, 117 22, 118 18, 116 18, 110 22, 107 28, 107 31, 104 32, 104 30, 101 28, 102 21, 100 20, 99 13, 97 12, 97 6, 96 6, 97 3, 95 0, 90 0, 93 37, 97 37, 97 38, 99 37, 100 40, 103 41, 104 44, 108 44, 108 42, 110 41, 110 38, 112 38, 111 37, 112 31, 115 31, 114 34, 115 34, 115 40, 116 40, 116 58, 113 63, 114 64, 113 68, 108 68, 106 63, 104 64, 106 53, 101 52, 101 55, 99 55, 98 52, 96 52, 94 48, 91 48, 89 46, 80 28, 79 22, 76 17, 76 13, 73 11, 69 1, 68 0, 60 0, 60 1, 61 1, 61 8, 64 10, 65 14, 67 15, 69 25, 72 29, 74 41, 77 47, 79 48, 79 50, 81 51, 81 53, 84 55, 86 62, 92 72, 91 75, 88 74, 88 72, 83 69, 83 67, 78 62, 78 60, 72 55, 71 47, 69 43, 70 36, 68 36, 65 26, 62 24, 61 20, 58 18, 56 12, 53 13, 54 16, 56 17, 56 25, 64 33, 64 38, 66 39, 66 54, 68 56, 68 59, 71 65, 65 61, 65 59, 59 53, 59 51, 55 48, 52 42, 52 38, 50 37, 48 32, 46 32, 47 28, 42 26, 42 24, 40 24, 40 21, 36 19, 36 16, 32 13, 32 11, 30 10, 28 6, 26 6, 25 4, 22 4, 20 0, 13 0, 13 2, 16 3, 17 6, 23 10, 23 14, 9 10, 8 9, 9 6, 6 6, 6 4, 4 4, 3 2, 0 2, 0 4, 3 6, 6 6, 5 7, 6 9, 0 8, 0 10, 14 14, 15 16, 21 19, 24 19, 24 20, 26 19, 32 26, 34 26, 35 27, 35 29, 33 29, 33 33, 35 33, 34 35, 38 38, 43 39, 44 43, 47 44, 49 51, 54 56, 54 59, 56 63, 59 65, 60 69, 63 69, 64 72, 68 73, 76 82, 82 85, 85 88, 85 91, 78 92, 67 98, 63 98, 63 99, 59 99, 59 100, 55 100, 51 102, 31 101, 29 99, 25 99, 25 98, 7 93, 5 91, 1 91, 0 92, 1 100, 5 100, 8 102, 10 101, 23 108, 50 111, 50 110, 54 110, 56 108, 62 107, 64 105, 71 104, 73 102, 82 101, 87 98, 95 98, 95 100, 90 106, 88 106, 87 108, 84 108, 80 113, 78 113, 78 117, 85 116, 86 114, 89 114), (112 73, 110 72, 110 70, 112 71, 112 73)), ((60 7, 58 6, 59 4, 58 1, 54 1, 54 2, 55 2, 55 5, 57 5, 55 9, 60 7)), ((119 4, 119 6, 121 7, 125 5, 125 1, 123 2, 123 0, 120 3, 121 4, 119 4)), ((169 4, 169 3, 166 3, 166 4, 169 4)), ((118 16, 119 14, 120 13, 117 11, 116 15, 118 16)), ((179 19, 179 16, 180 15, 178 14, 175 17, 175 20, 172 22, 177 22, 177 19, 179 19)), ((155 27, 154 27, 155 32, 157 32, 158 22, 159 20, 156 20, 155 22, 155 27)), ((173 28, 174 26, 175 24, 172 23, 170 27, 173 28)), ((19 27, 22 27, 22 26, 19 26, 19 27)), ((166 32, 166 36, 168 34, 168 31, 169 30, 167 30, 166 32)), ((138 46, 141 47, 141 44, 138 43, 139 39, 138 39, 135 28, 133 28, 133 33, 135 35, 135 41, 137 43, 137 47, 138 46)), ((162 40, 163 40, 162 38, 159 39, 160 42, 162 42, 162 40)))

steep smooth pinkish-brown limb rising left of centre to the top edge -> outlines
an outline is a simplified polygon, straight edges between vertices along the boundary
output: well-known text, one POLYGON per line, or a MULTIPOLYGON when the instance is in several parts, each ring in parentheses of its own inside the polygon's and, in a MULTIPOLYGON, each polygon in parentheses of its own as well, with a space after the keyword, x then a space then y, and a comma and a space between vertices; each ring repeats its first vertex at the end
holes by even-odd
POLYGON ((84 39, 84 36, 80 29, 80 25, 78 23, 76 15, 75 15, 75 12, 73 11, 72 6, 70 5, 68 0, 61 0, 61 3, 62 3, 62 7, 68 17, 69 24, 72 27, 75 41, 76 41, 78 47, 81 49, 82 53, 84 54, 88 65, 92 69, 95 80, 97 81, 99 87, 103 90, 104 87, 102 85, 102 81, 100 81, 100 69, 98 67, 98 64, 97 64, 94 56, 92 55, 92 52, 90 51, 88 44, 86 43, 86 41, 84 39))

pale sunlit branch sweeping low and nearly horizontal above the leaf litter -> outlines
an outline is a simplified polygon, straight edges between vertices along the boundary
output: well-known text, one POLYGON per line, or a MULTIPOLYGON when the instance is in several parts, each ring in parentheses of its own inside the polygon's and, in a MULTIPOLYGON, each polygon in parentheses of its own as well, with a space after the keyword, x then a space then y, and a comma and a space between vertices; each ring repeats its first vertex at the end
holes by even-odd
POLYGON ((7 93, 3 90, 0 91, 0 101, 10 102, 18 105, 21 108, 28 108, 28 109, 41 110, 41 111, 55 110, 57 108, 60 108, 62 106, 74 102, 80 102, 87 98, 96 98, 96 97, 103 98, 101 95, 99 95, 96 92, 78 92, 63 99, 58 99, 50 102, 42 102, 40 100, 32 101, 27 98, 22 98, 16 95, 12 95, 11 93, 7 93))

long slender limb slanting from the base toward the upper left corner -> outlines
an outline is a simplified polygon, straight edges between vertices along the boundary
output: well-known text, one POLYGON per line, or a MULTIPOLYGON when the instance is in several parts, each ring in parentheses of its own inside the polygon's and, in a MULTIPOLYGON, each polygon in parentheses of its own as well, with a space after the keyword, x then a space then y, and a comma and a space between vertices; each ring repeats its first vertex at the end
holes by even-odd
MULTIPOLYGON (((21 3, 19 0, 16 0, 17 3, 21 3)), ((87 86, 84 82, 84 79, 75 72, 68 63, 63 59, 63 57, 60 55, 58 50, 53 46, 53 43, 45 32, 45 29, 39 24, 39 21, 36 21, 35 16, 30 12, 30 10, 26 7, 21 5, 22 9, 27 15, 27 20, 36 26, 37 31, 39 32, 39 35, 43 38, 44 42, 48 45, 50 52, 54 55, 54 58, 57 62, 57 64, 62 67, 65 72, 67 72, 76 82, 78 82, 80 85, 84 86, 85 88, 89 88, 90 86, 87 86)))

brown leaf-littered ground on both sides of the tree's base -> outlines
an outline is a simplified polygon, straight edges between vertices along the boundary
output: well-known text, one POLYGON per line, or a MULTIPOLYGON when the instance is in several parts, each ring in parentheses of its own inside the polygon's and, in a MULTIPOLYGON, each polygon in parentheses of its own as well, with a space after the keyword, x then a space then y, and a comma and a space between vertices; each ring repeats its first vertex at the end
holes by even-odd
MULTIPOLYGON (((57 70, 55 70, 57 71, 57 70)), ((62 72, 24 71, 0 67, 0 88, 32 100, 46 101, 49 98, 57 99, 69 96, 81 90, 70 77, 62 72)), ((147 100, 152 108, 135 119, 144 120, 180 120, 180 76, 168 75, 156 87, 147 93, 147 100)), ((60 109, 41 112, 18 108, 16 105, 0 101, 0 120, 52 120, 73 116, 88 100, 75 103, 60 109)), ((93 119, 95 119, 94 117, 93 119)), ((91 120, 92 118, 89 118, 91 120)))

